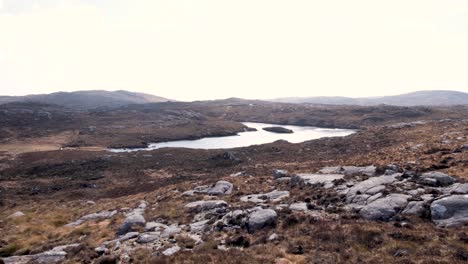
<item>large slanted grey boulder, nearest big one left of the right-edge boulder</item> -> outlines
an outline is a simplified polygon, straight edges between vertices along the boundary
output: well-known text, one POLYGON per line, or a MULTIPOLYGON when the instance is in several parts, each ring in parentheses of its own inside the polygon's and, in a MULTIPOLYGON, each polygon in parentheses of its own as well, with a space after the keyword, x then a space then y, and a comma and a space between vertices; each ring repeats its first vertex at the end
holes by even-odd
POLYGON ((404 194, 390 194, 367 204, 361 209, 359 214, 367 220, 388 221, 401 209, 406 207, 410 197, 404 194))

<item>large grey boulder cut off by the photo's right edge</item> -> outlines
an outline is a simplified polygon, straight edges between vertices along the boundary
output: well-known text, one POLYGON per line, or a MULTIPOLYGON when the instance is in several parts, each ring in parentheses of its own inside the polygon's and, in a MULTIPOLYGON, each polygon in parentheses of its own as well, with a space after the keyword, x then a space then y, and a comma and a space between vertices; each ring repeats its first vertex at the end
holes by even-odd
POLYGON ((432 221, 451 227, 468 223, 468 195, 452 195, 431 204, 432 221))

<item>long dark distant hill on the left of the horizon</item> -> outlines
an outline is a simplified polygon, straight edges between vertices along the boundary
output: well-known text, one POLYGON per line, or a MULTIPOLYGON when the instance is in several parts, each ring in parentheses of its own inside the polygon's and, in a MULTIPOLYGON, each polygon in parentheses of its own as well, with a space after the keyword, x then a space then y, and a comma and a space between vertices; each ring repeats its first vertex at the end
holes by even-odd
POLYGON ((128 91, 78 91, 37 94, 26 96, 0 96, 0 104, 10 102, 38 102, 56 104, 72 109, 93 109, 98 107, 119 107, 129 104, 146 104, 171 101, 169 99, 128 91))

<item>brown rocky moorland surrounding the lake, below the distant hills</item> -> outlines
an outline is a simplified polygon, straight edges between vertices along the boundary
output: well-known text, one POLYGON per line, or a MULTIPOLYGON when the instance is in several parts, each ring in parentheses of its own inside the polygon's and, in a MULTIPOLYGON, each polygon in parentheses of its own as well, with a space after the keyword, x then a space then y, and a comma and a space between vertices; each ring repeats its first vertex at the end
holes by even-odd
POLYGON ((6 103, 0 263, 466 263, 467 114, 236 98, 86 110, 6 103), (234 135, 248 129, 242 121, 358 131, 107 150, 234 135))

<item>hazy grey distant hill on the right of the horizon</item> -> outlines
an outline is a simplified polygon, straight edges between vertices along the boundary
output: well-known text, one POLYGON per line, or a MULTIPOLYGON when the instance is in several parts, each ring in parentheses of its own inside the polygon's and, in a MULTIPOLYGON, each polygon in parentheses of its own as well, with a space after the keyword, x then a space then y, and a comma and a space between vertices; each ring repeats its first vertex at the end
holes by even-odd
POLYGON ((396 106, 448 106, 468 105, 468 93, 457 91, 418 91, 413 93, 383 97, 288 97, 271 101, 281 103, 310 103, 333 105, 396 105, 396 106))

